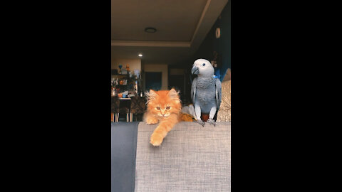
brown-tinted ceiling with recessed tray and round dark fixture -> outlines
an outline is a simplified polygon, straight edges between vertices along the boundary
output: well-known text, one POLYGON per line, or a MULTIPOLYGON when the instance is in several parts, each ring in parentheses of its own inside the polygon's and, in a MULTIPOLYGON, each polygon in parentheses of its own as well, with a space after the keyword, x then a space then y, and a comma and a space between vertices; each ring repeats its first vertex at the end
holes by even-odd
POLYGON ((112 58, 177 65, 191 57, 228 0, 112 0, 112 58), (145 33, 153 27, 156 33, 145 33))

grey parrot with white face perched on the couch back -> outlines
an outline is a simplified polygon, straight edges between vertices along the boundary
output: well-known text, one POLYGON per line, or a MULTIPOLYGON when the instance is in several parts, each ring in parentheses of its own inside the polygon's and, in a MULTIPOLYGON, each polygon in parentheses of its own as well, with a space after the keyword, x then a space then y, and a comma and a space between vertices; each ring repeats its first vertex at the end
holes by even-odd
POLYGON ((201 113, 209 114, 207 122, 214 124, 214 115, 221 104, 221 81, 214 78, 214 68, 209 60, 197 59, 192 65, 192 74, 197 75, 192 81, 191 98, 195 106, 196 119, 204 127, 201 113))

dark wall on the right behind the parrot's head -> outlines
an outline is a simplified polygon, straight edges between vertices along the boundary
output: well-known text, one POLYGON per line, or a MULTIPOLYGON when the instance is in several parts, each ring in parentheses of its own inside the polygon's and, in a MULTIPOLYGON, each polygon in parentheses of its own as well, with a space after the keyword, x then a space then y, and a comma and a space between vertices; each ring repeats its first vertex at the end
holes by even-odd
POLYGON ((204 38, 201 46, 199 46, 195 55, 193 56, 192 63, 198 58, 212 60, 214 58, 213 52, 216 51, 222 55, 222 65, 220 66, 221 81, 226 74, 228 68, 231 68, 231 4, 228 1, 224 6, 221 16, 217 18, 214 26, 210 29, 207 36, 204 38), (216 38, 216 28, 220 28, 221 37, 216 38))

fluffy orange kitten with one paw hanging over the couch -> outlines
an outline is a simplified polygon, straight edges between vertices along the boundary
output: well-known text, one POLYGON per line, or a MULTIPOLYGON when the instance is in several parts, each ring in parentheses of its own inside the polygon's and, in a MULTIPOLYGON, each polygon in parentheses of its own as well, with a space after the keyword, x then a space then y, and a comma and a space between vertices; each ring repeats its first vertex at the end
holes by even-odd
POLYGON ((160 90, 146 93, 147 112, 145 113, 145 122, 147 124, 160 124, 155 128, 150 138, 153 146, 162 144, 162 140, 167 133, 182 119, 182 105, 180 97, 176 90, 160 90))

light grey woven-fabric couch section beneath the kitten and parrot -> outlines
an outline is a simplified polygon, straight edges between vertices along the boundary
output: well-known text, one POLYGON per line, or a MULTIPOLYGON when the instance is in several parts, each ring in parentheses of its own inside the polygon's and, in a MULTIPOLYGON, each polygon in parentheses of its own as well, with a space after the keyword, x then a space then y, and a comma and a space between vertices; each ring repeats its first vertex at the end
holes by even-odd
POLYGON ((135 191, 230 191, 230 122, 180 122, 161 146, 155 127, 138 125, 135 191))

